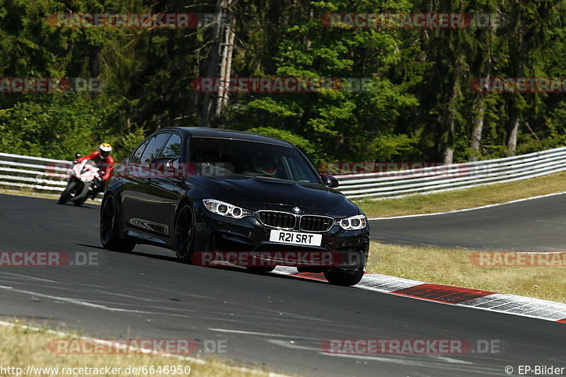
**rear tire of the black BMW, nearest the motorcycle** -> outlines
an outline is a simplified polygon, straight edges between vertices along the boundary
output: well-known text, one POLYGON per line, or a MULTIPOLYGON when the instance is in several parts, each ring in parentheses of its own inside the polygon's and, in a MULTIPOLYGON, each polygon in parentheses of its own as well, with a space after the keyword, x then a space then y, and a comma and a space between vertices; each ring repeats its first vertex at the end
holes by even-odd
POLYGON ((100 206, 100 242, 105 249, 130 253, 136 244, 120 238, 119 219, 116 198, 110 194, 100 206))

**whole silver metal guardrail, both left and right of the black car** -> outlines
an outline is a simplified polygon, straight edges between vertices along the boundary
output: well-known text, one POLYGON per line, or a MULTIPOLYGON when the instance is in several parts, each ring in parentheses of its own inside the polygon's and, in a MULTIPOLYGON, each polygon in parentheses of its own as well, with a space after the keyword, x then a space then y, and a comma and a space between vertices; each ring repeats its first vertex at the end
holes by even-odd
MULTIPOLYGON (((71 161, 0 153, 0 186, 62 192, 71 166, 71 161)), ((495 160, 336 178, 339 190, 349 198, 379 199, 514 182, 562 171, 566 171, 566 147, 495 160)))

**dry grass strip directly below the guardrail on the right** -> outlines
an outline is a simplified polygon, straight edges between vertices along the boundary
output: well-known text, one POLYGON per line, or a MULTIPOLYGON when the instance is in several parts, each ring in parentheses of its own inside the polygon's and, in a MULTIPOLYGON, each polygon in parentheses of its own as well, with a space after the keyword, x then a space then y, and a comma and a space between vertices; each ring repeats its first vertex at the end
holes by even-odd
POLYGON ((411 195, 398 199, 354 199, 354 202, 371 218, 454 211, 564 191, 566 172, 466 190, 411 195))

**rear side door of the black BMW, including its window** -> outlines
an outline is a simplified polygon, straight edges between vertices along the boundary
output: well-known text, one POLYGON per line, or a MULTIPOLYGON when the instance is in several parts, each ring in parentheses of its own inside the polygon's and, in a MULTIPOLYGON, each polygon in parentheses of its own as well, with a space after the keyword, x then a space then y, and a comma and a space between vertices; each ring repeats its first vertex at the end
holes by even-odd
POLYGON ((159 211, 163 210, 163 199, 156 187, 151 185, 156 175, 151 161, 158 158, 169 137, 170 132, 154 134, 141 153, 139 162, 130 164, 129 190, 125 193, 124 200, 125 221, 128 226, 160 236, 168 234, 168 225, 156 221, 160 218, 159 211))

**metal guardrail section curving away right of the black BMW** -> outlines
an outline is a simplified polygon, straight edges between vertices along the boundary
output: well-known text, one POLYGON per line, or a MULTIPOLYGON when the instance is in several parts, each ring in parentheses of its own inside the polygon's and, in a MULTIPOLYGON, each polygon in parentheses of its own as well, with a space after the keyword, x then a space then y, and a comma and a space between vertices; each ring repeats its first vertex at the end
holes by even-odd
POLYGON ((336 178, 339 190, 351 199, 380 199, 514 182, 562 171, 566 171, 566 147, 495 160, 336 178))

